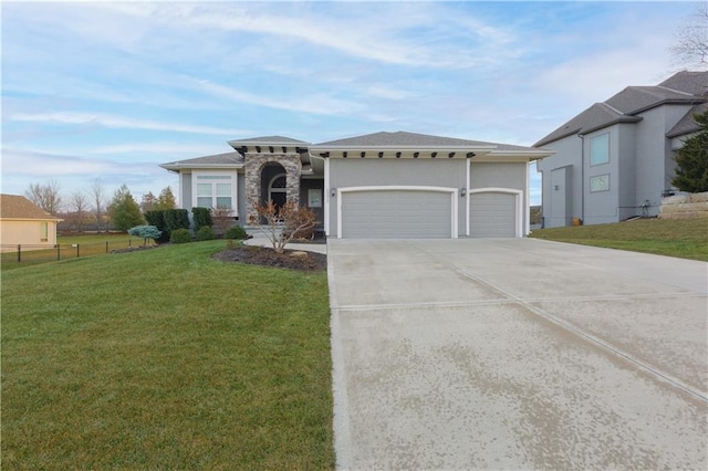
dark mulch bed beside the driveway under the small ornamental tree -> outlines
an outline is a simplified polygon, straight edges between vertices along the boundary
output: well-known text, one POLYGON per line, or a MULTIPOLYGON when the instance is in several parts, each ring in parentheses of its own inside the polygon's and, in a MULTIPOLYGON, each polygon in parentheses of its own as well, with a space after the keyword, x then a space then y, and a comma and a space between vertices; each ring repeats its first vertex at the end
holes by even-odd
POLYGON ((275 252, 272 248, 256 245, 238 245, 214 254, 215 259, 225 262, 241 262, 251 265, 275 266, 302 271, 323 271, 327 269, 327 255, 304 252, 306 257, 292 257, 294 250, 275 252))

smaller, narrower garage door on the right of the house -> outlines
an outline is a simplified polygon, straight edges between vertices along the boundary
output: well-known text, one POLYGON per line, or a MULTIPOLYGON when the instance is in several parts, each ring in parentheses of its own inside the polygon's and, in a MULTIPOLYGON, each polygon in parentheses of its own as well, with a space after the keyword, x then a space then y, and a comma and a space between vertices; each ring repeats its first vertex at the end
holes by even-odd
POLYGON ((491 191, 470 195, 469 232, 477 238, 517 237, 517 196, 491 191))

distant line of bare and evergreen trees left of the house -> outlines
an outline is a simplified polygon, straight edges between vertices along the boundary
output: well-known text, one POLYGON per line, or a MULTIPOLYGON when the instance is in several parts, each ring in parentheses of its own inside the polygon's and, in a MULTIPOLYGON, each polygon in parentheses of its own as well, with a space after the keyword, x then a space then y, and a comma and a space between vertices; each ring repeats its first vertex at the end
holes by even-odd
POLYGON ((82 232, 86 227, 96 231, 108 229, 125 231, 145 223, 147 211, 175 209, 175 195, 170 187, 163 188, 158 196, 152 191, 143 195, 138 203, 127 185, 122 185, 112 197, 98 178, 84 189, 61 195, 61 185, 54 179, 43 184, 30 184, 24 196, 44 211, 65 220, 71 230, 82 232))

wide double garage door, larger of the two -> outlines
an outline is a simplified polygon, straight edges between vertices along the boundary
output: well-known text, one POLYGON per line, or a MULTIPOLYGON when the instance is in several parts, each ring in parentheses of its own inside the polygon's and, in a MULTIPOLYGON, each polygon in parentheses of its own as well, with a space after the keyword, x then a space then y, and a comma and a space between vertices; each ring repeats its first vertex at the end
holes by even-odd
POLYGON ((449 238, 450 192, 366 190, 342 192, 343 238, 449 238))

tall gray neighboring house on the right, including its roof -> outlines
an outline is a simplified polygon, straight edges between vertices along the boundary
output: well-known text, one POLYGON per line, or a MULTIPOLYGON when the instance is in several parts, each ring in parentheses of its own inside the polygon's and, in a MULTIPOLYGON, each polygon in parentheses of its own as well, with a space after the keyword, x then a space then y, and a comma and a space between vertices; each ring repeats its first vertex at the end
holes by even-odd
POLYGON ((675 151, 698 130, 693 114, 707 102, 708 72, 679 72, 656 86, 628 86, 534 144, 554 151, 538 164, 544 227, 657 216, 675 151))

